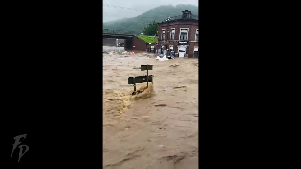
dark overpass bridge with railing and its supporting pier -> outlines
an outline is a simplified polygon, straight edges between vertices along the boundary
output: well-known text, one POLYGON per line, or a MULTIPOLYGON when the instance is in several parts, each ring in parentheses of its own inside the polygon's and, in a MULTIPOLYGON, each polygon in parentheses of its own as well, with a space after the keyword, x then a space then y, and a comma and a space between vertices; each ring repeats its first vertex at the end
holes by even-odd
POLYGON ((124 49, 125 50, 133 49, 134 35, 138 35, 138 32, 102 29, 102 37, 103 38, 124 39, 124 49))

